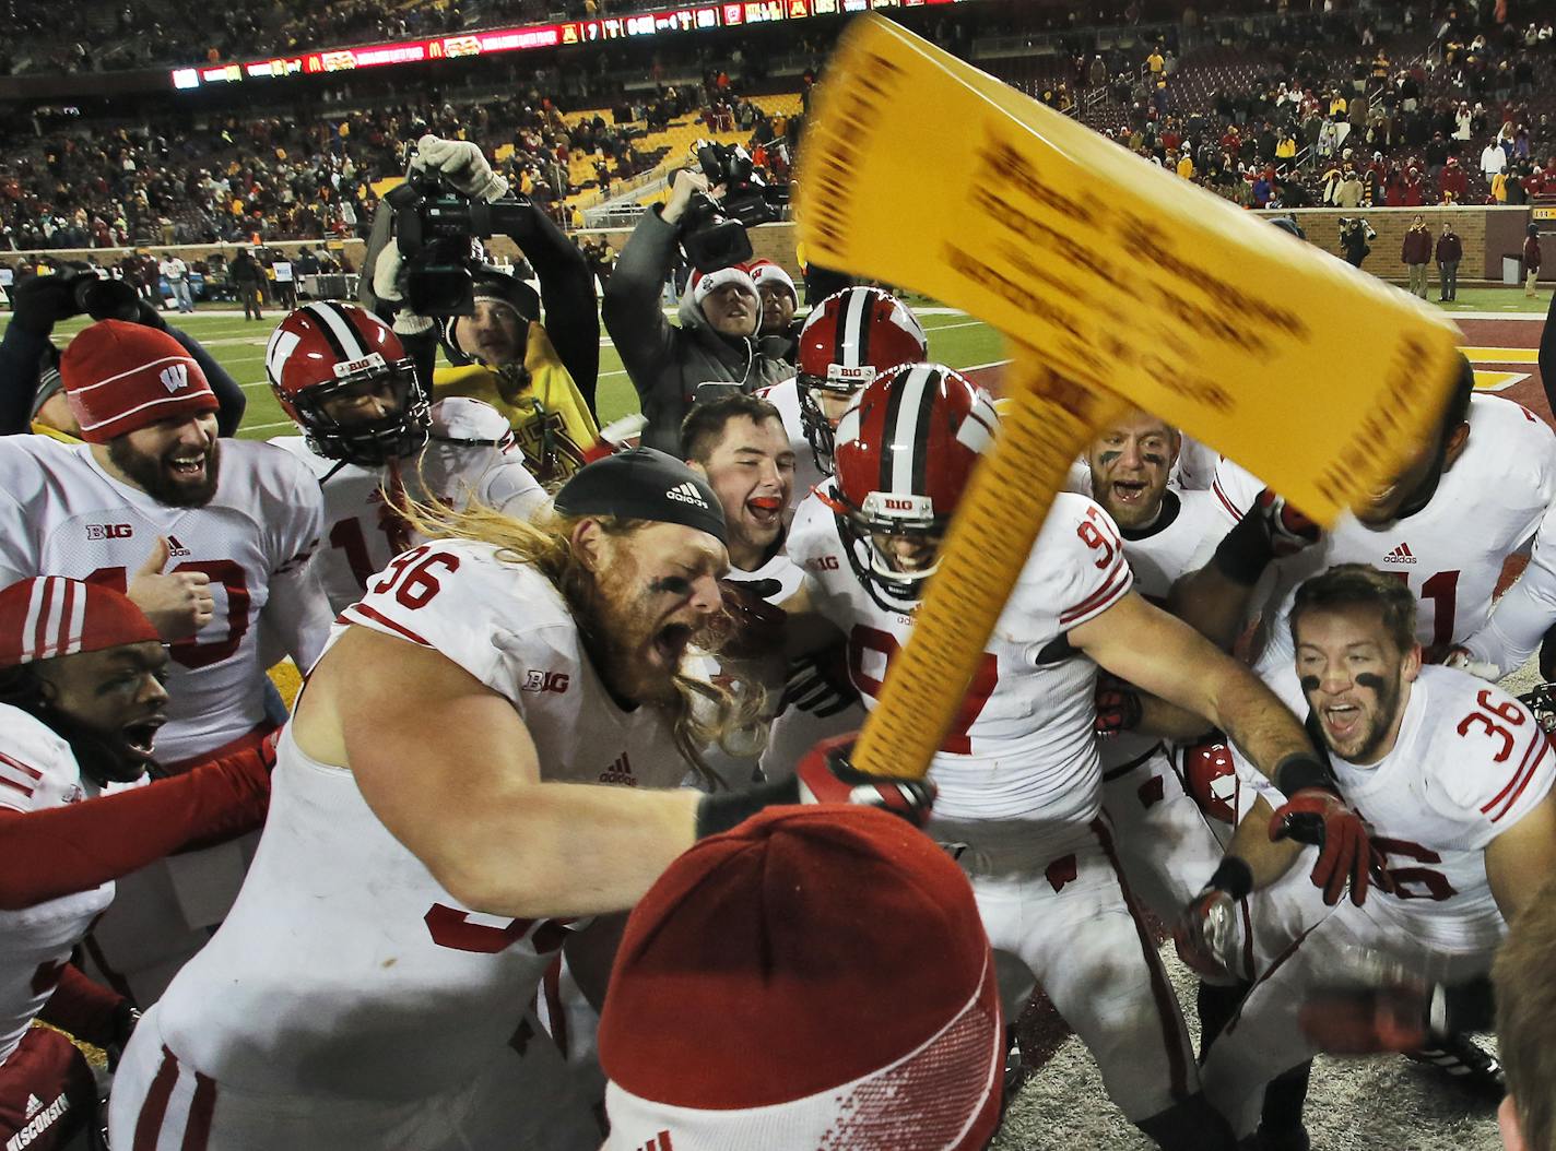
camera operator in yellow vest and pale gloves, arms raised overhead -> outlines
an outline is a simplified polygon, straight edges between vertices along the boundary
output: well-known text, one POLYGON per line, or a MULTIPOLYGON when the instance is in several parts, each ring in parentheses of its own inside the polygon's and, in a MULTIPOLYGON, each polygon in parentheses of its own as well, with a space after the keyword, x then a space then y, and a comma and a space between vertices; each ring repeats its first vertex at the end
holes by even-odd
MULTIPOLYGON (((428 260, 414 255, 411 244, 401 247, 401 233, 391 238, 397 216, 403 219, 405 205, 415 201, 398 198, 397 190, 373 222, 363 302, 392 320, 417 375, 431 381, 429 398, 464 395, 492 404, 507 417, 538 479, 571 474, 599 443, 599 313, 588 261, 534 201, 507 198, 507 180, 468 140, 423 135, 411 179, 423 204, 442 180, 459 198, 490 205, 493 230, 499 227, 523 252, 540 292, 499 268, 465 258, 471 311, 417 313, 411 282, 428 260), (434 369, 439 345, 448 366, 434 369)), ((398 227, 403 232, 403 222, 398 227)))

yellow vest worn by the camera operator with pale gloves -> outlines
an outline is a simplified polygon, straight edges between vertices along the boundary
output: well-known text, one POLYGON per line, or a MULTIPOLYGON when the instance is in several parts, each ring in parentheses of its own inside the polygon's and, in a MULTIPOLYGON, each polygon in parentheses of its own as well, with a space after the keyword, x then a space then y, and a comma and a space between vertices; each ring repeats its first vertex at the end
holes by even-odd
POLYGON ((608 453, 584 394, 540 324, 529 325, 523 378, 484 364, 440 367, 433 372, 433 398, 445 395, 484 400, 503 412, 529 470, 543 484, 563 481, 594 456, 608 453))

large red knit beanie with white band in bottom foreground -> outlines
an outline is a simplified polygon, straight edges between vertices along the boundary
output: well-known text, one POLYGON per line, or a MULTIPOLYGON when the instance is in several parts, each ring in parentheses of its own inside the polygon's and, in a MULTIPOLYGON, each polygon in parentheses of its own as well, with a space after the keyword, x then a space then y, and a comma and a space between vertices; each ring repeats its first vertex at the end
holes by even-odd
POLYGON ((1004 1028, 966 877, 868 807, 769 809, 627 922, 599 1027, 602 1151, 972 1151, 1004 1028))

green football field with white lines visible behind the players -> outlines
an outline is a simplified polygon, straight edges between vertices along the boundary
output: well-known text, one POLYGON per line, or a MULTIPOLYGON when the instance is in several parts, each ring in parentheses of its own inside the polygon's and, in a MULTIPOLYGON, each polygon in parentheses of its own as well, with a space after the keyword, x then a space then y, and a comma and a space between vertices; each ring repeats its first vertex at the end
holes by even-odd
MULTIPOLYGON (((918 306, 927 300, 910 302, 918 306)), ((1542 291, 1534 300, 1525 299, 1517 288, 1466 288, 1460 292, 1455 305, 1442 306, 1446 311, 1466 313, 1544 313, 1548 306, 1548 294, 1542 291)), ((226 306, 221 310, 201 311, 193 316, 168 316, 168 322, 184 328, 201 341, 221 364, 232 372, 233 378, 243 384, 249 397, 249 408, 244 414, 240 436, 252 439, 271 439, 282 436, 291 426, 282 414, 280 406, 271 397, 265 383, 265 342, 271 330, 280 322, 280 313, 266 313, 265 320, 244 320, 243 313, 233 313, 226 306)), ((1004 341, 982 320, 976 320, 965 313, 941 308, 924 308, 920 319, 929 333, 930 355, 955 369, 987 367, 1005 359, 1004 341)), ((0 331, 9 322, 9 314, 0 316, 0 331)), ((64 344, 70 336, 86 325, 84 319, 61 324, 54 334, 64 344)), ((599 362, 599 415, 601 423, 608 423, 621 415, 636 411, 638 401, 621 367, 621 358, 615 347, 601 333, 599 362)))

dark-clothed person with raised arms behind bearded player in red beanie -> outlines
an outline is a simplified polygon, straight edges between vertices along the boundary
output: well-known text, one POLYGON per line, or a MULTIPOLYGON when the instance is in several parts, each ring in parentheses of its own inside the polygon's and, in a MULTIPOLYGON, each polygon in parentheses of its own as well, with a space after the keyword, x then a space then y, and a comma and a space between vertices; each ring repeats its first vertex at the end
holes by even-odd
POLYGON ((210 390, 216 394, 218 434, 237 434, 247 401, 243 387, 227 369, 218 364, 193 336, 170 327, 162 314, 138 299, 135 289, 123 280, 104 280, 90 271, 72 271, 34 275, 17 285, 11 294, 11 324, 0 338, 0 436, 30 431, 34 412, 47 401, 47 397, 44 401, 37 400, 44 364, 58 362, 59 358, 50 341, 54 325, 82 314, 95 320, 128 320, 173 336, 199 364, 210 390))

